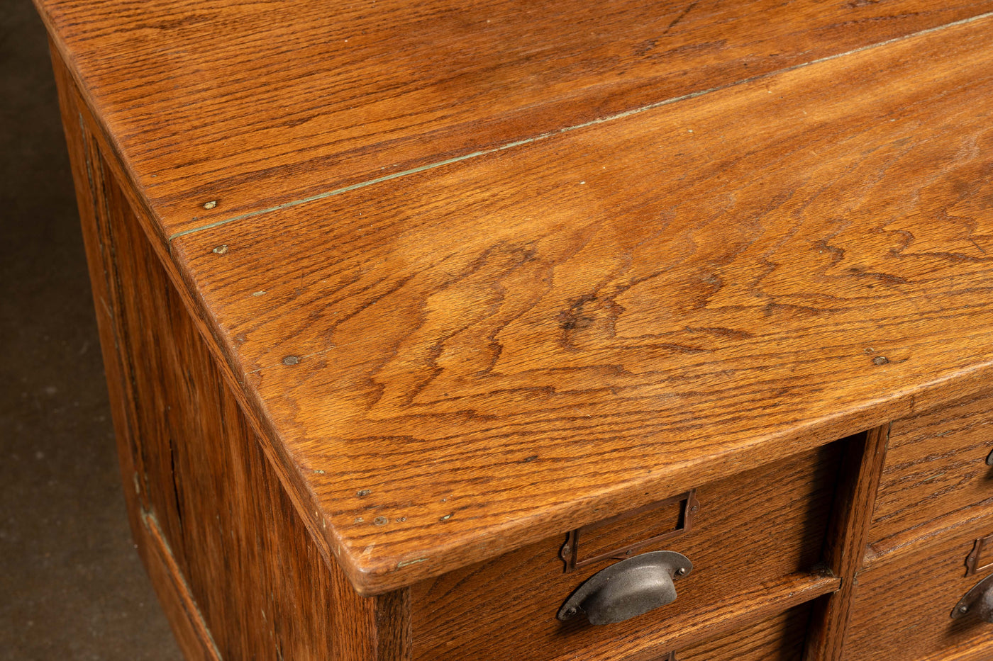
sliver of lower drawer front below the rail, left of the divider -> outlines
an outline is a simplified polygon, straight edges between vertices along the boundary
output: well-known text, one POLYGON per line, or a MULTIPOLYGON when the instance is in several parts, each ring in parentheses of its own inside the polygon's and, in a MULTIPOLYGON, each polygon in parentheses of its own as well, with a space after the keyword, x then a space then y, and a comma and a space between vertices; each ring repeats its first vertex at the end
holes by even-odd
POLYGON ((800 661, 809 621, 810 604, 804 603, 758 624, 679 650, 672 661, 800 661))

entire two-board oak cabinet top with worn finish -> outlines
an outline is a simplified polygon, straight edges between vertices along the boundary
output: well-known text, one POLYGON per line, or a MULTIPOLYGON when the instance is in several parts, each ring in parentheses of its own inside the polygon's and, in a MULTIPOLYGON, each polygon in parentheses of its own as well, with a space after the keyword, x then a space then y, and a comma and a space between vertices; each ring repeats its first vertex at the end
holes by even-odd
POLYGON ((363 593, 990 374, 993 1, 38 4, 363 593))

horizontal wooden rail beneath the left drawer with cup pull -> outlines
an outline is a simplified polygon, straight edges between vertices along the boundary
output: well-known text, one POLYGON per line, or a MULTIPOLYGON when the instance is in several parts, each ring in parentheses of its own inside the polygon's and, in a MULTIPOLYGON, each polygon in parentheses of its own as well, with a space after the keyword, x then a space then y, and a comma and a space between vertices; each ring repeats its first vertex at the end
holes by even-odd
MULTIPOLYGON (((757 583, 747 593, 715 601, 706 609, 674 614, 665 620, 665 630, 645 631, 631 640, 618 641, 601 648, 599 653, 584 656, 584 661, 613 661, 619 658, 654 658, 718 638, 739 629, 837 591, 841 580, 830 573, 788 574, 780 579, 757 583)), ((674 602, 677 606, 678 599, 674 602)), ((672 605, 668 607, 673 607, 672 605)), ((572 655, 554 657, 567 661, 572 655)))

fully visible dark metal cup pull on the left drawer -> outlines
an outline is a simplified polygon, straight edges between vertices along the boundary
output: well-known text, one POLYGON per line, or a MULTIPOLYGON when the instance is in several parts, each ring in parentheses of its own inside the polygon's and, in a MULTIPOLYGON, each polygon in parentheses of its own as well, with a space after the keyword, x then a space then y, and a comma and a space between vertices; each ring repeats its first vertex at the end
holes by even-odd
POLYGON ((566 599, 558 618, 582 610, 591 624, 637 617, 676 598, 674 581, 693 571, 686 556, 673 551, 644 553, 597 572, 566 599))

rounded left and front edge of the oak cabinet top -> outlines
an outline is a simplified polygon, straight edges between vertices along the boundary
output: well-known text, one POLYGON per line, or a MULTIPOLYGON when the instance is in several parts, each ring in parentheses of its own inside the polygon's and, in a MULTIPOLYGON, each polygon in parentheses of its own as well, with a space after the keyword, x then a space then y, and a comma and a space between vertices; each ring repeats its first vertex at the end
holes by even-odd
MULTIPOLYGON (((154 220, 154 212, 148 206, 147 200, 140 195, 140 190, 136 188, 133 178, 130 177, 129 169, 123 162, 115 144, 107 136, 105 127, 89 110, 90 99, 87 97, 85 87, 80 84, 80 81, 75 77, 73 67, 69 66, 64 58, 65 45, 52 36, 52 26, 38 0, 36 0, 36 5, 49 29, 54 65, 57 69, 60 66, 63 67, 67 79, 73 84, 72 91, 82 101, 78 104, 80 120, 92 133, 107 165, 111 168, 113 176, 120 182, 127 184, 122 186, 122 189, 132 206, 132 210, 139 218, 143 231, 155 249, 198 331, 207 342, 224 380, 235 395, 239 406, 259 439, 266 458, 279 476, 322 556, 328 562, 332 562, 333 558, 337 559, 359 595, 383 595, 409 587, 418 581, 434 578, 473 563, 494 558, 529 543, 593 523, 603 518, 603 516, 597 515, 598 511, 620 512, 648 504, 656 499, 654 496, 647 495, 647 492, 653 491, 652 487, 670 483, 680 484, 680 487, 672 489, 674 495, 684 490, 685 485, 689 482, 709 481, 724 474, 724 466, 727 462, 734 462, 739 470, 755 468, 867 429, 877 428, 891 421, 936 407, 944 402, 977 394, 988 387, 989 380, 993 379, 993 361, 979 364, 944 379, 921 384, 913 391, 891 394, 888 398, 870 402, 859 409, 806 421, 803 425, 797 425, 778 435, 755 439, 751 443, 721 455, 681 463, 665 473, 653 474, 650 478, 638 477, 630 482, 611 485, 582 500, 561 503, 555 510, 543 512, 540 516, 508 520, 502 525, 492 526, 481 533, 481 538, 487 537, 486 544, 481 544, 478 540, 442 543, 432 549, 425 550, 424 559, 418 558, 416 562, 411 562, 411 559, 406 557, 377 557, 374 554, 359 557, 357 554, 345 550, 345 540, 337 535, 333 527, 328 526, 327 519, 321 513, 321 502, 309 487, 298 464, 279 441, 278 434, 267 422, 266 409, 258 393, 236 376, 241 371, 236 367, 238 362, 233 357, 236 356, 236 351, 230 342, 225 341, 225 336, 223 332, 219 331, 217 321, 210 314, 202 297, 197 293, 196 287, 189 279, 190 271, 187 261, 183 257, 183 250, 172 250, 166 237, 161 235, 159 231, 161 225, 154 220), (788 452, 775 457, 756 460, 754 458, 755 449, 769 444, 787 447, 788 452)), ((928 32, 934 32, 944 27, 946 26, 934 28, 928 32)), ((765 77, 774 77, 782 72, 781 70, 770 72, 765 77)), ((58 73, 56 77, 59 78, 58 73)), ((174 241, 174 245, 182 245, 182 243, 183 237, 174 241)), ((443 540, 441 541, 443 542, 443 540)))

